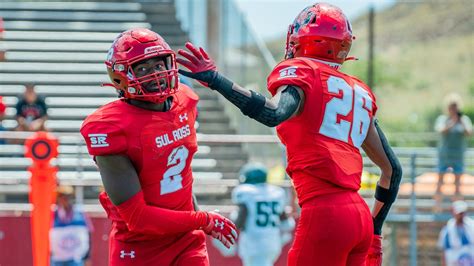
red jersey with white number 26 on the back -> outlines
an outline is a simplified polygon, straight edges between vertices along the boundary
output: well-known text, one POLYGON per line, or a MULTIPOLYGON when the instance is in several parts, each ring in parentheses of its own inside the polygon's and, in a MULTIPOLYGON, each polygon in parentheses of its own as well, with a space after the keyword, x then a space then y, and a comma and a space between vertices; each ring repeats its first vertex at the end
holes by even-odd
POLYGON ((300 205, 315 196, 360 188, 359 151, 377 106, 362 81, 310 58, 278 64, 268 77, 275 95, 284 85, 304 91, 303 110, 277 127, 286 146, 287 172, 300 205))

